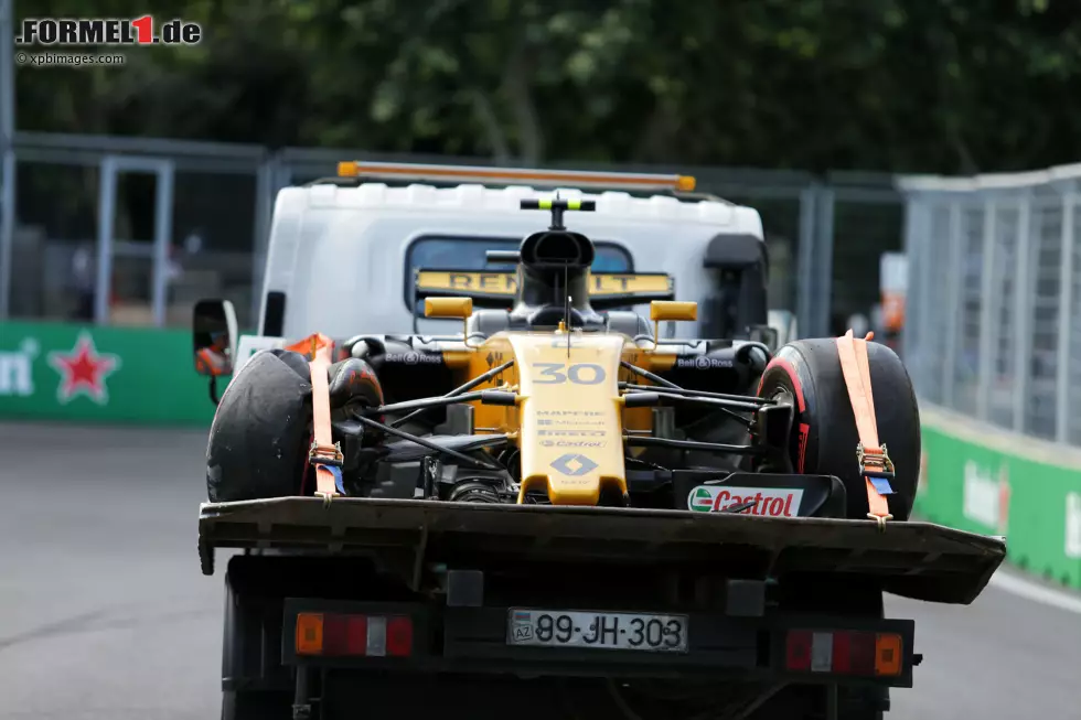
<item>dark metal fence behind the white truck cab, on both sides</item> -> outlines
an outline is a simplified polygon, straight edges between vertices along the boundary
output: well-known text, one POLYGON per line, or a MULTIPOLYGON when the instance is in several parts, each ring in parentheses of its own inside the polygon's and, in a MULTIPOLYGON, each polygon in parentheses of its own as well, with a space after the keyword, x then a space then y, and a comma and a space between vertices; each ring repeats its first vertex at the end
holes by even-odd
MULTIPOLYGON (((278 190, 332 175, 340 160, 492 164, 477 158, 17 132, 4 157, 0 320, 184 325, 197 297, 258 307, 278 190), (8 182, 13 180, 13 182, 8 182)), ((901 249, 901 195, 888 175, 549 163, 683 172, 762 214, 771 305, 802 334, 838 330, 878 302, 878 257, 901 249)))

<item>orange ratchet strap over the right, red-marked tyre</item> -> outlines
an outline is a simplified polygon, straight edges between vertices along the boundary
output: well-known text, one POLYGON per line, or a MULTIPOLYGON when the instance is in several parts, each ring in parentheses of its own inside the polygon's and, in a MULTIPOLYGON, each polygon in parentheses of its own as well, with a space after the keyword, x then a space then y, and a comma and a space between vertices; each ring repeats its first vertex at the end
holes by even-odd
POLYGON ((867 517, 878 520, 879 529, 885 529, 886 520, 893 519, 884 497, 893 493, 889 484, 893 477, 893 463, 886 445, 878 442, 870 362, 867 359, 867 342, 874 336, 875 333, 867 333, 865 338, 857 340, 849 330, 837 338, 837 354, 841 356, 841 372, 845 376, 845 385, 848 386, 848 400, 852 402, 856 432, 859 434, 856 462, 859 463, 859 474, 867 483, 867 507, 870 509, 867 517))

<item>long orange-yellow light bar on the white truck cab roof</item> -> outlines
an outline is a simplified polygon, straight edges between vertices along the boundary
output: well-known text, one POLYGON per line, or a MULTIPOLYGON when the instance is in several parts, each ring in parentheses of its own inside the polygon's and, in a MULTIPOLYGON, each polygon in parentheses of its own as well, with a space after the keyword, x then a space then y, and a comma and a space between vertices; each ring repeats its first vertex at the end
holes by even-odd
POLYGON ((661 175, 624 172, 587 172, 577 170, 522 170, 471 165, 420 165, 399 162, 338 163, 339 178, 407 180, 415 182, 471 182, 479 184, 523 184, 549 187, 597 187, 603 190, 694 192, 691 175, 661 175))

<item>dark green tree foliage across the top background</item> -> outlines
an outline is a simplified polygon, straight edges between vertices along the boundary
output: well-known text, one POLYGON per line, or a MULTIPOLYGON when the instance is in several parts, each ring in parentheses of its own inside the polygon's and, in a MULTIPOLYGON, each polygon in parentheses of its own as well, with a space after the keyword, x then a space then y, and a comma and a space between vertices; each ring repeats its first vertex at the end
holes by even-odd
MULTIPOLYGON (((1077 0, 157 0, 193 47, 21 68, 23 130, 899 172, 1081 160, 1077 0)), ((21 0, 22 17, 138 17, 21 0)))

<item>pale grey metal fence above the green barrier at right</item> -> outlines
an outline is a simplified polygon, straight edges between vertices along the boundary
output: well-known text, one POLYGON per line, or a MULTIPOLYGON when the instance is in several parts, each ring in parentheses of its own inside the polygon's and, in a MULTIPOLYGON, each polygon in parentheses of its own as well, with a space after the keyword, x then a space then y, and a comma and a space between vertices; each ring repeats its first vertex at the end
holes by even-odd
POLYGON ((1081 164, 898 187, 921 398, 1081 445, 1081 164))

